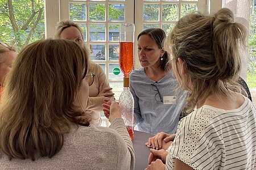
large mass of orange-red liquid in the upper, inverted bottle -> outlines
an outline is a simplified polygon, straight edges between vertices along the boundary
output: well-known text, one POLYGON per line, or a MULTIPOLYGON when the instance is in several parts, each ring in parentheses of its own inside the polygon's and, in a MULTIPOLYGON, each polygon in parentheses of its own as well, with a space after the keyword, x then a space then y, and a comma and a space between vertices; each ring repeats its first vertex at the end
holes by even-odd
POLYGON ((133 71, 133 42, 119 42, 119 66, 125 77, 133 71))

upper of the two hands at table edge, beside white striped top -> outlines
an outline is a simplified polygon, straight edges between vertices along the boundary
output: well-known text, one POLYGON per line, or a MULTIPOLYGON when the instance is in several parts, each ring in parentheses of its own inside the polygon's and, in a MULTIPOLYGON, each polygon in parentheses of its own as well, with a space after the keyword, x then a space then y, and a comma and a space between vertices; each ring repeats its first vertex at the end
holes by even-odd
POLYGON ((169 146, 171 146, 172 141, 174 141, 176 134, 167 134, 161 131, 160 133, 156 134, 152 138, 148 138, 148 142, 145 145, 149 148, 154 148, 156 150, 164 149, 167 150, 169 146))

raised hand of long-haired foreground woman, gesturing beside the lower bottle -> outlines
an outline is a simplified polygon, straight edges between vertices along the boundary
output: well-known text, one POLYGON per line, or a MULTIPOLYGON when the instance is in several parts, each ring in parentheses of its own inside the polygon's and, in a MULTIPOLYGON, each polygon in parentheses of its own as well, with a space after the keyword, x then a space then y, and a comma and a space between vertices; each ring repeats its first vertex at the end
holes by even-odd
POLYGON ((110 100, 104 99, 106 104, 102 104, 105 116, 112 122, 115 118, 121 117, 121 108, 119 104, 115 101, 114 97, 110 100))

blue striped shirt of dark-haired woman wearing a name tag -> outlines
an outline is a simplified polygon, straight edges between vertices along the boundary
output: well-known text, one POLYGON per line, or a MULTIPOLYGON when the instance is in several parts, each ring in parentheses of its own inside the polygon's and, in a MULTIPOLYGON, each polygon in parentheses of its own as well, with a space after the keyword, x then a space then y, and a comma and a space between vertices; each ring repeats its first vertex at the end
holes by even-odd
POLYGON ((171 70, 157 83, 147 77, 144 68, 134 70, 130 75, 130 91, 134 97, 135 125, 139 131, 156 134, 164 131, 174 134, 179 124, 181 109, 185 103, 188 92, 177 90, 177 83, 174 72, 171 70), (155 83, 155 87, 153 87, 155 83), (162 98, 175 96, 175 104, 164 104, 159 99, 158 90, 162 98))

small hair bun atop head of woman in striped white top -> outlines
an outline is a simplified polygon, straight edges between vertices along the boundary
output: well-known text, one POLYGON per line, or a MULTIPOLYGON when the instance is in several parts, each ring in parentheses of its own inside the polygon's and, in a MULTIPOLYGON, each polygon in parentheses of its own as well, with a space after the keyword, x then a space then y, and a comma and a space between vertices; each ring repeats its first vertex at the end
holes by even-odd
POLYGON ((234 14, 229 8, 221 8, 213 17, 216 22, 234 23, 234 14))

